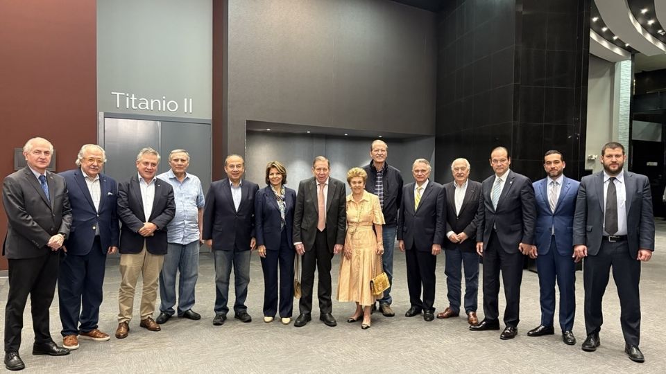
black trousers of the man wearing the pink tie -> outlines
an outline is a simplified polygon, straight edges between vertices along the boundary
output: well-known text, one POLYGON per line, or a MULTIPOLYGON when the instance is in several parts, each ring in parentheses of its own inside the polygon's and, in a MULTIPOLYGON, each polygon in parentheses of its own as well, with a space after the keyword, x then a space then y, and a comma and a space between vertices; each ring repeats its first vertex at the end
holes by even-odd
POLYGON ((312 311, 312 287, 314 285, 314 270, 318 269, 319 284, 317 296, 319 298, 319 312, 330 313, 333 310, 331 302, 331 258, 333 252, 328 247, 326 230, 317 231, 314 245, 305 250, 302 258, 302 271, 300 276, 300 312, 303 314, 312 311))

